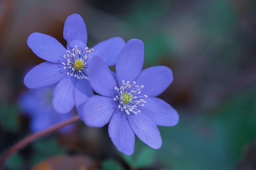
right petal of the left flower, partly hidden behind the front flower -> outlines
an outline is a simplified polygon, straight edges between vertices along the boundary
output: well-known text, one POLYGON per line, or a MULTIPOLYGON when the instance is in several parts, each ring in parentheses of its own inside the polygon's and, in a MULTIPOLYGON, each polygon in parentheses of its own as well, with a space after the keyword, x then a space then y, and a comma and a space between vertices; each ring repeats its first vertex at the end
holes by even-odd
POLYGON ((116 59, 124 45, 124 39, 121 37, 113 37, 94 45, 93 55, 100 57, 108 66, 113 66, 116 64, 116 59))

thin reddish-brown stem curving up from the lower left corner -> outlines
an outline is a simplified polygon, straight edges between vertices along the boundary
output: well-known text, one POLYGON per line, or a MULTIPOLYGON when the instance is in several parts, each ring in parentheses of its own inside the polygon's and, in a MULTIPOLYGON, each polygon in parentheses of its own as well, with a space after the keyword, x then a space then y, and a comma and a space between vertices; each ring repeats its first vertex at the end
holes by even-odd
POLYGON ((80 120, 80 117, 78 115, 75 115, 73 117, 71 117, 70 119, 67 119, 65 121, 62 121, 60 123, 57 123, 47 129, 44 129, 42 131, 39 131, 37 133, 33 133, 31 135, 29 135, 28 137, 25 137, 24 139, 22 139, 21 141, 19 141, 18 143, 16 143, 14 146, 12 146, 9 150, 7 150, 7 152, 5 152, 5 154, 2 156, 1 160, 0 160, 0 170, 3 168, 4 166, 4 162, 6 161, 6 159, 14 152, 16 152, 17 150, 21 149, 22 147, 28 145, 29 143, 31 143, 32 141, 39 139, 41 137, 44 137, 46 135, 49 135, 50 133, 53 133, 54 131, 57 131, 59 129, 61 129, 62 127, 65 127, 66 125, 70 125, 76 121, 80 120))

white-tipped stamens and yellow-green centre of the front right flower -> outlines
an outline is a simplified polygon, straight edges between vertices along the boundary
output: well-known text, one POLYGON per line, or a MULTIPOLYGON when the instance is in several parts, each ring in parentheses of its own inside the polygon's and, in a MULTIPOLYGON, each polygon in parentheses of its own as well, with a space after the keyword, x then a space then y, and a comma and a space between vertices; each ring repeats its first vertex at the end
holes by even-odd
POLYGON ((128 115, 130 112, 134 113, 135 115, 140 113, 140 109, 138 109, 138 107, 144 107, 146 101, 143 99, 138 100, 137 98, 148 98, 147 95, 139 96, 142 88, 144 88, 144 86, 136 85, 135 81, 130 84, 130 81, 125 83, 124 80, 122 80, 122 86, 120 88, 115 88, 115 90, 118 92, 118 96, 116 96, 114 100, 119 101, 118 108, 121 111, 124 110, 128 115))

